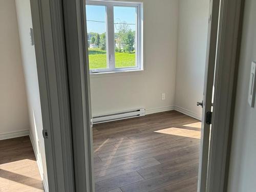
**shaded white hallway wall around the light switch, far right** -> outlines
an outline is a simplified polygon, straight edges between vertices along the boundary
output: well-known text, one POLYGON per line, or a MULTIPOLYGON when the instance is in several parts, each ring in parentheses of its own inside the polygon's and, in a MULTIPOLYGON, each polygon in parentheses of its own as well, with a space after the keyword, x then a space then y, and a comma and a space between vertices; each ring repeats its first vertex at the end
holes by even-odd
POLYGON ((245 1, 242 47, 229 170, 228 191, 252 192, 256 187, 256 106, 247 97, 251 62, 256 61, 256 1, 245 1))

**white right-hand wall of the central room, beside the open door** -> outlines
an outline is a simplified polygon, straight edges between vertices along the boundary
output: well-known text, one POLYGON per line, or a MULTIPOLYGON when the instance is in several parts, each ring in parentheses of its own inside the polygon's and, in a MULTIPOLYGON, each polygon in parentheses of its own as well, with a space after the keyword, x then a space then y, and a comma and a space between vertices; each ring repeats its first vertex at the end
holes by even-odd
POLYGON ((201 119, 209 0, 179 0, 175 105, 201 119))

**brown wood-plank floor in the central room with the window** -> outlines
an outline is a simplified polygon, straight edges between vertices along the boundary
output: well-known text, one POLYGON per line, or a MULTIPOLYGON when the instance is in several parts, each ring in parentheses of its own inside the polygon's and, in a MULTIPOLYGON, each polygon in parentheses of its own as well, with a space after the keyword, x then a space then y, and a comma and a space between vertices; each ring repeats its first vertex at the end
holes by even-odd
POLYGON ((197 191, 200 134, 176 111, 94 125, 96 192, 197 191))

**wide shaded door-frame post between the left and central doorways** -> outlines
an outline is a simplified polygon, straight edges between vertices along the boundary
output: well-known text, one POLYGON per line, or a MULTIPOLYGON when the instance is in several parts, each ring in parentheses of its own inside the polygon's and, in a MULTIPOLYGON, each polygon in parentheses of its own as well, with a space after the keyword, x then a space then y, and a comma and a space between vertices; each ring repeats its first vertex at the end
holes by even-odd
MULTIPOLYGON (((94 191, 83 1, 30 0, 50 192, 94 191), (65 24, 65 25, 64 25, 65 24), (84 42, 84 43, 83 43, 84 42)), ((47 189, 46 189, 47 190, 47 189)))

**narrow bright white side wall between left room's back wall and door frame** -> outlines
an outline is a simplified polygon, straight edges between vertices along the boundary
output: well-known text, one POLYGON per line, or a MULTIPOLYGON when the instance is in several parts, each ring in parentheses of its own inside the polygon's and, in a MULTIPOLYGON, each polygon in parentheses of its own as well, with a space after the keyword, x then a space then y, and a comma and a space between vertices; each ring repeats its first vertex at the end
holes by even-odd
POLYGON ((29 0, 16 0, 20 47, 28 96, 30 119, 30 137, 37 157, 37 162, 44 184, 47 183, 45 144, 42 137, 42 116, 37 78, 34 46, 30 45, 29 31, 32 17, 29 0))

